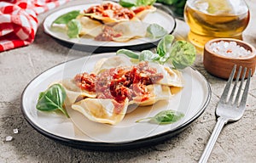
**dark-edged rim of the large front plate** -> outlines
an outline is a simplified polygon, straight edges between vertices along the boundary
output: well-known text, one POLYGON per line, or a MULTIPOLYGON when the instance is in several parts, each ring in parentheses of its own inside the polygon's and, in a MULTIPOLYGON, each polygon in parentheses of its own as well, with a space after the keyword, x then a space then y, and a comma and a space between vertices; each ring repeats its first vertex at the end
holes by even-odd
MULTIPOLYGON (((106 53, 102 53, 102 54, 106 54, 106 53)), ((66 64, 68 62, 72 62, 72 61, 75 61, 75 60, 84 59, 84 58, 88 58, 88 57, 90 57, 90 56, 79 57, 77 59, 70 59, 70 60, 61 62, 60 64, 54 65, 54 66, 44 70, 43 72, 39 73, 38 76, 41 76, 42 74, 44 74, 48 70, 51 70, 51 69, 55 68, 58 65, 63 65, 63 64, 66 64)), ((108 142, 89 142, 89 141, 83 141, 83 140, 72 139, 72 138, 64 138, 64 137, 55 135, 54 133, 45 131, 43 128, 37 126, 26 115, 26 111, 25 111, 26 109, 25 109, 25 106, 23 104, 23 99, 25 98, 24 94, 26 93, 26 88, 29 87, 30 84, 38 78, 38 76, 35 76, 34 78, 32 78, 32 80, 26 85, 26 87, 24 88, 24 90, 21 94, 21 98, 20 98, 21 113, 25 117, 26 121, 37 132, 41 133, 42 135, 44 135, 47 138, 54 139, 57 142, 66 144, 68 146, 72 146, 74 148, 104 151, 104 150, 109 150, 109 149, 111 149, 111 150, 138 149, 138 148, 142 148, 142 147, 146 147, 146 146, 151 146, 151 145, 154 145, 156 143, 160 143, 162 141, 165 141, 167 138, 172 138, 177 133, 182 132, 187 126, 189 126, 190 123, 195 121, 206 110, 207 105, 210 103, 210 100, 211 100, 211 97, 212 97, 212 89, 210 87, 210 83, 207 82, 206 77, 203 76, 194 67, 189 66, 189 68, 194 70, 195 73, 197 73, 207 85, 207 93, 208 94, 207 94, 206 100, 204 101, 203 105, 201 106, 201 109, 194 116, 192 116, 188 121, 186 121, 185 123, 182 123, 180 126, 172 128, 172 130, 168 130, 167 132, 162 132, 162 133, 156 134, 154 136, 150 136, 148 138, 139 138, 139 139, 134 139, 134 140, 128 141, 128 142, 117 142, 117 143, 115 143, 115 142, 111 142, 111 143, 108 143, 108 142)))

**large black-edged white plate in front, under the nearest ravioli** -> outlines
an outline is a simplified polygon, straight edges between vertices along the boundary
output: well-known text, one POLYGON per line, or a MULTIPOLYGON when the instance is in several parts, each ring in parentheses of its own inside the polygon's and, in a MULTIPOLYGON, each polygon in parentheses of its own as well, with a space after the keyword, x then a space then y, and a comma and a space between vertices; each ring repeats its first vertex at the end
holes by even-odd
POLYGON ((67 61, 44 71, 30 82, 22 94, 22 112, 38 132, 49 138, 84 149, 128 149, 157 143, 181 132, 185 126, 201 115, 211 98, 207 80, 191 67, 182 70, 184 87, 169 101, 162 101, 150 107, 140 107, 125 115, 116 126, 88 121, 75 110, 68 113, 75 120, 55 112, 42 112, 36 109, 38 94, 52 82, 73 77, 83 71, 90 72, 98 59, 111 57, 113 53, 91 55, 67 61), (184 113, 182 120, 171 125, 156 125, 148 122, 136 123, 138 119, 155 115, 160 110, 178 110, 184 113))

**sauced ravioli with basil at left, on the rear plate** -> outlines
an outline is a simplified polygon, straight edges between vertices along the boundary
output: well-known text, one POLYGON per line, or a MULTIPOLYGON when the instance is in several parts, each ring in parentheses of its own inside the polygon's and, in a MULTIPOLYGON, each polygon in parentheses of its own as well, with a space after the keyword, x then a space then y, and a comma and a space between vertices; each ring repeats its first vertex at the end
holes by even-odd
POLYGON ((143 18, 155 9, 154 6, 125 8, 119 3, 103 1, 90 8, 84 8, 79 13, 72 11, 76 13, 75 16, 78 14, 76 18, 70 13, 61 15, 56 20, 65 18, 65 21, 54 21, 51 29, 66 33, 69 38, 92 38, 99 42, 128 42, 133 38, 147 37, 148 25, 143 22, 143 18), (77 30, 73 31, 72 25, 67 24, 66 17, 67 20, 71 17, 79 21, 73 24, 77 30))

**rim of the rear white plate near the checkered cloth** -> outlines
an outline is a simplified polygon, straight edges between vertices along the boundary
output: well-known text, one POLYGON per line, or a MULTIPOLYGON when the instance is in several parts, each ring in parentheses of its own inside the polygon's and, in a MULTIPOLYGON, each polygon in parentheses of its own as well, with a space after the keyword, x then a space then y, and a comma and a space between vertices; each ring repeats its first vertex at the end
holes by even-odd
MULTIPOLYGON (((132 48, 140 48, 142 45, 147 45, 145 47, 150 47, 150 48, 154 48, 158 42, 160 42, 160 39, 155 39, 153 41, 149 41, 149 42, 142 42, 142 43, 133 43, 133 44, 128 44, 128 45, 118 45, 118 46, 113 46, 113 45, 100 45, 100 46, 97 46, 97 45, 93 45, 93 44, 83 44, 81 42, 72 42, 72 41, 69 41, 67 39, 62 39, 61 37, 55 37, 54 35, 50 34, 49 33, 49 30, 48 30, 48 27, 46 25, 46 20, 49 18, 49 16, 51 16, 52 14, 55 14, 56 12, 59 12, 61 10, 64 10, 64 9, 67 9, 67 8, 75 8, 76 6, 81 6, 81 5, 90 5, 90 4, 99 4, 99 3, 81 3, 81 4, 76 4, 76 5, 71 5, 71 6, 67 6, 65 8, 60 8, 58 10, 55 10, 51 13, 49 13, 43 20, 43 30, 44 30, 44 33, 46 33, 47 35, 49 35, 49 37, 52 37, 54 39, 56 39, 57 41, 59 42, 62 42, 62 44, 64 46, 68 46, 68 47, 73 47, 73 45, 75 45, 74 48, 78 48, 78 49, 81 49, 83 51, 86 51, 86 49, 84 48, 81 48, 81 47, 89 47, 89 49, 87 49, 88 51, 91 51, 91 48, 94 49, 96 52, 101 52, 101 50, 96 50, 97 48, 108 48, 108 51, 109 49, 113 48, 114 51, 116 51, 116 48, 129 48, 131 50, 135 50, 135 49, 132 49, 132 48), (151 45, 151 46, 149 46, 151 45)), ((172 14, 168 14, 166 13, 166 11, 160 9, 160 8, 156 8, 156 11, 160 12, 160 14, 165 14, 165 16, 167 16, 169 19, 172 19, 173 21, 173 28, 172 28, 172 31, 169 32, 169 34, 172 34, 176 28, 177 28, 177 20, 173 17, 172 14)), ((146 48, 142 48, 142 49, 146 49, 146 48)), ((106 50, 102 50, 102 51, 106 51, 106 50)))

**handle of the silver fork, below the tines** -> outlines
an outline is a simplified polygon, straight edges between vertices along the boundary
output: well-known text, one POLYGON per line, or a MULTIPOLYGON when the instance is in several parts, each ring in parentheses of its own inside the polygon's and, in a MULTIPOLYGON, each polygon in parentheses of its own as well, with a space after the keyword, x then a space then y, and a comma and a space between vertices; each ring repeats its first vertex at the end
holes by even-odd
POLYGON ((211 138, 209 139, 209 141, 207 143, 206 149, 204 150, 203 154, 201 155, 201 159, 199 160, 199 163, 207 163, 207 160, 208 160, 209 156, 211 155, 212 149, 214 147, 214 144, 216 143, 218 135, 227 122, 228 122, 227 119, 225 119, 223 117, 218 117, 218 121, 213 129, 211 138))

